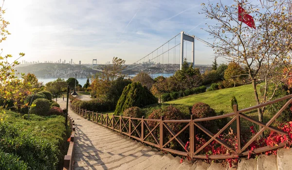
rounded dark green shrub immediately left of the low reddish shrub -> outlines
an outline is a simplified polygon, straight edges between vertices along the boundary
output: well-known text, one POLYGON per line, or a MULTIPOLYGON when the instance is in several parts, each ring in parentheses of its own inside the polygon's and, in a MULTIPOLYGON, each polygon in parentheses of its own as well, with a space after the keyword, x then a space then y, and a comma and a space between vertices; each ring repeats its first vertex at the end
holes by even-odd
POLYGON ((51 103, 47 99, 37 99, 33 102, 35 106, 30 109, 31 114, 36 114, 40 116, 47 116, 50 110, 51 103))

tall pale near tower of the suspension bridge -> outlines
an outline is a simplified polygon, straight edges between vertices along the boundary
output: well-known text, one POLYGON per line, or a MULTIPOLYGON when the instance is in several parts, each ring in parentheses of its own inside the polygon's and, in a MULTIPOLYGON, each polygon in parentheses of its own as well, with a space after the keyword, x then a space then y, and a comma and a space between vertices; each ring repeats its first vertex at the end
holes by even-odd
POLYGON ((180 69, 183 67, 183 40, 192 42, 192 63, 195 68, 195 35, 185 34, 181 32, 181 49, 180 49, 180 69))

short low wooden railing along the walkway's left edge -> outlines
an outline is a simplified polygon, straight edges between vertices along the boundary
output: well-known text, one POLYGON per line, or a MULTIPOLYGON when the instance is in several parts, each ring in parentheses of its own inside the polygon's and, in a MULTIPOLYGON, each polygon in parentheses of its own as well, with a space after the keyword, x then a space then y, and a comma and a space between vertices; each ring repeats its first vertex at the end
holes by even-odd
POLYGON ((64 157, 63 170, 73 170, 74 161, 74 137, 75 137, 75 123, 74 120, 68 115, 69 126, 71 129, 70 144, 67 155, 64 157))

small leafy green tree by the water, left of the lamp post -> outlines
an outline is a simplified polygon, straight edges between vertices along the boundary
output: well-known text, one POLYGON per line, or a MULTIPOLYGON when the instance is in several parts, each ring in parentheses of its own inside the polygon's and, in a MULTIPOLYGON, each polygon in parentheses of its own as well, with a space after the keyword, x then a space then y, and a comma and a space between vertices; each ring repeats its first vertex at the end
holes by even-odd
POLYGON ((46 89, 55 96, 56 101, 57 97, 64 91, 66 91, 67 82, 64 79, 58 78, 53 82, 49 82, 46 84, 46 89))

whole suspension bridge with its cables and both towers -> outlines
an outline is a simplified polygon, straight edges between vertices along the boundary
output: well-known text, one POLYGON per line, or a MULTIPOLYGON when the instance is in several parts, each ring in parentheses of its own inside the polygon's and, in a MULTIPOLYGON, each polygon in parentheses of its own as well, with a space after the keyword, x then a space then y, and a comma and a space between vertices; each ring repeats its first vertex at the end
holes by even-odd
MULTIPOLYGON (((127 67, 122 70, 122 74, 124 77, 132 78, 135 74, 143 71, 150 75, 168 77, 182 68, 183 59, 189 58, 189 51, 191 51, 189 52, 191 55, 189 63, 192 63, 193 67, 195 67, 195 40, 212 46, 207 41, 182 31, 146 56, 130 65, 126 65, 127 67)), ((92 69, 103 71, 104 66, 103 64, 98 64, 97 59, 92 60, 92 69)))

